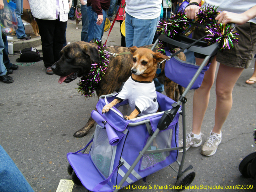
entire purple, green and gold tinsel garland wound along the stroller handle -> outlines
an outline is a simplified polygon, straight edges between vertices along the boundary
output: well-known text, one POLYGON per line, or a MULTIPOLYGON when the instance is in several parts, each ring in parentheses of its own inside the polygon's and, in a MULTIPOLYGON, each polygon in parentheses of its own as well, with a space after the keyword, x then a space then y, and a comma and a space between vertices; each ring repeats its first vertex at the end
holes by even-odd
MULTIPOLYGON (((234 47, 234 44, 238 42, 238 34, 232 32, 230 24, 218 24, 218 21, 214 20, 219 12, 215 6, 204 6, 197 13, 196 23, 202 24, 206 27, 207 37, 205 41, 208 45, 219 42, 219 51, 224 51, 234 47)), ((169 38, 175 38, 178 34, 183 34, 183 32, 188 28, 190 22, 188 21, 184 10, 181 10, 176 15, 171 15, 170 19, 162 20, 157 26, 157 34, 165 34, 169 38)), ((167 46, 165 42, 159 41, 158 52, 162 54, 165 53, 164 47, 167 46)), ((170 50, 175 52, 174 50, 170 50)))

